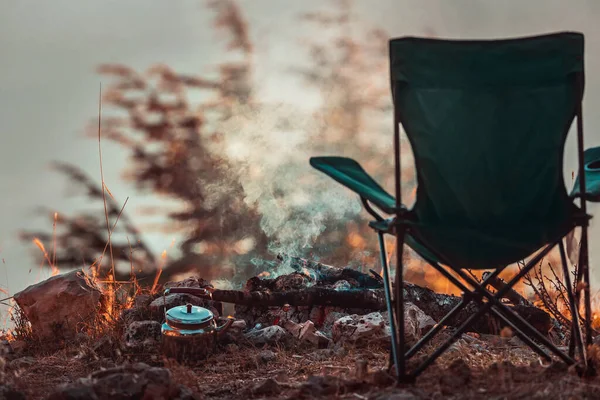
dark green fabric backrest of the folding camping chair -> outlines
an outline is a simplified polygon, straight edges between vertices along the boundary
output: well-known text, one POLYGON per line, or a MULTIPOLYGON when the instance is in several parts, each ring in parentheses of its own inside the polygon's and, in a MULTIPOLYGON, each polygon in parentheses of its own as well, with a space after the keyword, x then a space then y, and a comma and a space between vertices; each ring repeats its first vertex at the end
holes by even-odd
POLYGON ((563 152, 583 96, 583 54, 583 35, 571 32, 390 41, 421 221, 495 229, 570 217, 563 152))

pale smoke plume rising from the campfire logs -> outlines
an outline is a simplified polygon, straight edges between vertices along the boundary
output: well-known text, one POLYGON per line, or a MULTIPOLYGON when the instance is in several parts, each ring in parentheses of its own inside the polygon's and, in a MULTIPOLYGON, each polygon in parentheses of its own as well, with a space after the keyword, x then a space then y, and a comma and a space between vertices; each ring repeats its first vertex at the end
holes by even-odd
POLYGON ((356 196, 310 167, 317 130, 312 115, 285 104, 244 107, 220 129, 226 133, 222 151, 236 169, 244 201, 261 215, 272 255, 306 254, 328 220, 361 211, 356 196))

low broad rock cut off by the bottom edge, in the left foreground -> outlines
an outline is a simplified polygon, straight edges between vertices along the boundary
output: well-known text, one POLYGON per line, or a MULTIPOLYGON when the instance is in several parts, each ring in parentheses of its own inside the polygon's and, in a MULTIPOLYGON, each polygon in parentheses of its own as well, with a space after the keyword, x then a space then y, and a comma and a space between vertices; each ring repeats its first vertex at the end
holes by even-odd
POLYGON ((47 400, 74 399, 194 400, 189 388, 178 385, 166 368, 138 363, 100 370, 59 387, 47 400))

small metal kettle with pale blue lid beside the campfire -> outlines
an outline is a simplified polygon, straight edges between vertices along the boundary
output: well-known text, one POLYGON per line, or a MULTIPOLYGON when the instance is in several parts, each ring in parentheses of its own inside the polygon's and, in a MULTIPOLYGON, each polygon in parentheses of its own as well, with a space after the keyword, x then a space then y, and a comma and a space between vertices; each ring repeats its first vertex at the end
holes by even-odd
MULTIPOLYGON (((209 297, 210 293, 202 288, 170 288, 164 296, 171 293, 187 293, 199 297, 209 297)), ((217 326, 214 314, 203 307, 186 304, 166 310, 165 322, 161 328, 163 353, 178 361, 204 358, 216 348, 218 339, 233 324, 234 319, 217 326)))

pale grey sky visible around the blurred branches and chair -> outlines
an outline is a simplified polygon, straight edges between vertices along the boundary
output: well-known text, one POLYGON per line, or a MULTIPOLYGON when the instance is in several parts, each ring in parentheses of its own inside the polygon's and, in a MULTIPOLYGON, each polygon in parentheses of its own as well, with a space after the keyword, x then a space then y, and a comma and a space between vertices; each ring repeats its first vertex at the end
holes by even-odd
MULTIPOLYGON (((308 94, 285 69, 301 62, 298 47, 310 36, 296 16, 320 0, 245 0, 240 2, 258 46, 258 76, 265 94, 310 102, 308 94)), ((356 0, 371 22, 391 35, 433 32, 448 38, 499 38, 558 30, 586 35, 586 144, 600 145, 600 2, 580 0, 356 0)), ((97 144, 82 138, 96 115, 99 63, 119 62, 144 69, 166 63, 183 72, 207 71, 219 61, 220 45, 211 28, 210 11, 197 0, 0 0, 0 284, 11 294, 38 279, 31 257, 16 233, 46 227, 32 210, 46 205, 70 212, 85 199, 67 199, 63 179, 47 169, 51 160, 79 165, 98 176, 97 144), (33 268, 31 274, 28 270, 33 268)), ((310 106, 310 104, 306 104, 310 106)), ((573 140, 567 169, 573 169, 573 140)), ((105 179, 130 212, 148 199, 119 179, 123 153, 104 145, 105 179)), ((600 209, 592 207, 592 211, 600 209)), ((135 215, 135 214, 134 214, 135 215)), ((592 232, 592 262, 600 260, 592 232)), ((170 237, 150 238, 157 252, 170 237)), ((600 273, 598 273, 600 276, 600 273)))

